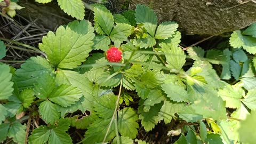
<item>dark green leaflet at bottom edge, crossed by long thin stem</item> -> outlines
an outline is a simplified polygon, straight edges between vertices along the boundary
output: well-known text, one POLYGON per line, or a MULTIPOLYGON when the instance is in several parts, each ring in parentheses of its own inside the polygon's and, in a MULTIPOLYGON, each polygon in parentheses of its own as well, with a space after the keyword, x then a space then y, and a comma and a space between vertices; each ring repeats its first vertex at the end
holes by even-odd
MULTIPOLYGON (((83 143, 95 143, 102 142, 109 127, 110 119, 98 119, 94 121, 85 132, 85 138, 83 139, 83 143)), ((106 141, 107 142, 115 137, 115 124, 114 122, 111 124, 106 141)))

